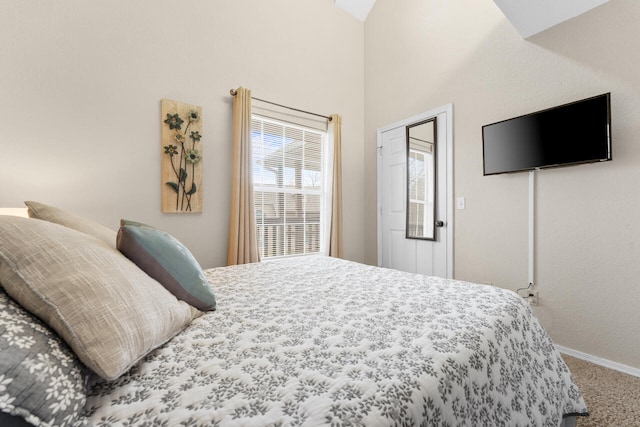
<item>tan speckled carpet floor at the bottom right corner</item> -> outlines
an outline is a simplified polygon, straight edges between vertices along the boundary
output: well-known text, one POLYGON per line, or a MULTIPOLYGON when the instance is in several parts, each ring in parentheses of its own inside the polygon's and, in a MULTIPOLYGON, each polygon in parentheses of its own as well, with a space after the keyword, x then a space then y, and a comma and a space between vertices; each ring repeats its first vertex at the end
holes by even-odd
POLYGON ((640 378, 562 355, 589 408, 577 427, 640 426, 640 378))

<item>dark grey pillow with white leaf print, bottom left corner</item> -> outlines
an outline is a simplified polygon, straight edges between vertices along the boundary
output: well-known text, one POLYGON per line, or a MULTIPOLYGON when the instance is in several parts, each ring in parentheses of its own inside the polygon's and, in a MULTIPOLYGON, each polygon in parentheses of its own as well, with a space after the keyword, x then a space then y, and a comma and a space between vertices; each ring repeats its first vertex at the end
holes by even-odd
POLYGON ((1 288, 0 354, 0 411, 36 426, 76 424, 89 371, 1 288))

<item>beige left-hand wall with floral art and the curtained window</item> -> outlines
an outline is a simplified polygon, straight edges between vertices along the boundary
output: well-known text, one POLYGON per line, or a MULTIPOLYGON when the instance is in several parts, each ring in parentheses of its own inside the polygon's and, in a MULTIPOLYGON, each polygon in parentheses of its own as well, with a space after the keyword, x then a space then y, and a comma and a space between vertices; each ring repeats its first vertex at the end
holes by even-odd
POLYGON ((364 259, 364 25, 333 1, 10 1, 0 58, 0 206, 147 222, 222 265, 244 86, 343 116, 345 256, 364 259), (201 215, 160 212, 161 98, 203 107, 201 215))

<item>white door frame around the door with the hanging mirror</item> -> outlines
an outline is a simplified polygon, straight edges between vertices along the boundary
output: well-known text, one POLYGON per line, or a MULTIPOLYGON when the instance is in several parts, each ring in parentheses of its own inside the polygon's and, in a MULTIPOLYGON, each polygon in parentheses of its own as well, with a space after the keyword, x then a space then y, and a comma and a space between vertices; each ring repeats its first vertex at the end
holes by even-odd
MULTIPOLYGON (((453 197, 453 104, 449 103, 441 107, 434 108, 424 113, 417 114, 415 116, 400 120, 390 125, 378 128, 377 130, 377 232, 378 232, 378 266, 382 266, 382 180, 380 179, 380 172, 382 171, 382 134, 392 129, 399 127, 406 127, 407 125, 427 120, 432 117, 436 117, 440 114, 445 115, 445 144, 446 144, 446 156, 447 156, 447 194, 445 204, 447 206, 447 216, 444 219, 446 226, 443 227, 445 231, 445 239, 447 243, 447 278, 453 279, 453 218, 454 218, 454 197, 453 197)), ((438 126, 441 124, 439 123, 438 126)), ((438 149, 440 149, 439 147, 438 149)))

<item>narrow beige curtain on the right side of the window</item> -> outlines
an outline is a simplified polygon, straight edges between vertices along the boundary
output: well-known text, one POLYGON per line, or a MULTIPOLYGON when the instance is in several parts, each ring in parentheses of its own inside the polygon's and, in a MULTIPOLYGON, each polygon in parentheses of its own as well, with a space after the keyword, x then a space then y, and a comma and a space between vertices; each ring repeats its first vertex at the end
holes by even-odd
POLYGON ((333 140, 329 256, 342 258, 342 117, 332 114, 328 130, 333 140))

